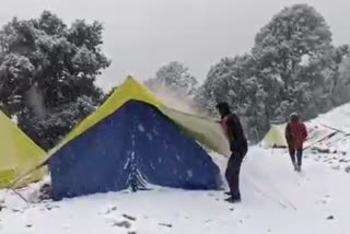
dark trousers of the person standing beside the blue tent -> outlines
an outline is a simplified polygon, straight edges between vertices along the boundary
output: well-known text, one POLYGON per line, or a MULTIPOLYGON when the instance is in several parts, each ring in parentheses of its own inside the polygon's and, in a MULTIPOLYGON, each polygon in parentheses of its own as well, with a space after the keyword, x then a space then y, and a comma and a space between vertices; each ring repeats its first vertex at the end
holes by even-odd
POLYGON ((241 198, 240 192, 240 172, 241 172, 241 165, 242 161, 245 156, 246 152, 244 153, 232 153, 229 163, 228 168, 225 172, 225 177, 230 187, 230 192, 232 197, 234 198, 241 198))

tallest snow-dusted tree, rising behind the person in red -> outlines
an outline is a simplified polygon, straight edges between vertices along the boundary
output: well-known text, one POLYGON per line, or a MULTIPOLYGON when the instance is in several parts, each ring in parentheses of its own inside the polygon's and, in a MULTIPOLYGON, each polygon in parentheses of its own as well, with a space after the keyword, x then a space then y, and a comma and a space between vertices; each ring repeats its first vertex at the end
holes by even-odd
POLYGON ((291 112, 305 118, 329 109, 347 46, 331 45, 325 19, 311 5, 283 9, 257 34, 253 56, 265 90, 269 118, 291 112))

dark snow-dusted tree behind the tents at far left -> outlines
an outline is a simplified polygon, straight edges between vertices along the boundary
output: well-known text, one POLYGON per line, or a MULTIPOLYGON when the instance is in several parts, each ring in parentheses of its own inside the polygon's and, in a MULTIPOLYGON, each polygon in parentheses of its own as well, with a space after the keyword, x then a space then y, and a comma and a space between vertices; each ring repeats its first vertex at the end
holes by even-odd
MULTIPOLYGON (((66 120, 50 121, 52 115, 80 105, 83 96, 90 100, 89 105, 96 105, 103 96, 94 84, 96 75, 109 66, 101 49, 102 31, 101 23, 82 20, 67 26, 48 11, 33 20, 14 17, 0 31, 0 102, 9 115, 18 115, 20 127, 45 149, 59 139, 51 136, 54 129, 65 136, 72 127, 66 120), (40 132, 31 130, 44 121, 40 132), (62 122, 66 127, 58 127, 62 122)), ((73 112, 72 122, 89 114, 82 113, 73 112)), ((56 115, 57 119, 60 116, 56 115)))

